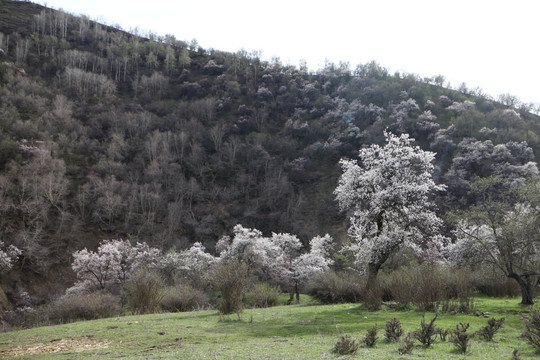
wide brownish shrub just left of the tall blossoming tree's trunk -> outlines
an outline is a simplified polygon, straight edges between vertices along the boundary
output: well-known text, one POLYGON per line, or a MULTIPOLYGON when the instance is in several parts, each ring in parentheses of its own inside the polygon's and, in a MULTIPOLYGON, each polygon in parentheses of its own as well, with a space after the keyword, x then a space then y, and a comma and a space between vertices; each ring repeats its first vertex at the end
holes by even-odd
POLYGON ((358 302, 365 284, 352 272, 325 271, 311 277, 307 293, 323 304, 358 302))

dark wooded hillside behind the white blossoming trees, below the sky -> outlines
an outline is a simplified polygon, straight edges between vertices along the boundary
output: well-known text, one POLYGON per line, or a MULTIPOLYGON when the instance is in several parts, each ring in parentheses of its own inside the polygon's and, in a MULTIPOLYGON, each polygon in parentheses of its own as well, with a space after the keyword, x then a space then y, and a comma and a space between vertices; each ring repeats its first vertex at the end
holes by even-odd
POLYGON ((45 301, 72 285, 71 254, 104 239, 212 251, 242 224, 343 243, 339 160, 385 130, 436 153, 438 216, 467 210, 475 179, 531 170, 540 119, 444 83, 375 62, 309 71, 0 0, 0 240, 22 251, 1 287, 45 301))

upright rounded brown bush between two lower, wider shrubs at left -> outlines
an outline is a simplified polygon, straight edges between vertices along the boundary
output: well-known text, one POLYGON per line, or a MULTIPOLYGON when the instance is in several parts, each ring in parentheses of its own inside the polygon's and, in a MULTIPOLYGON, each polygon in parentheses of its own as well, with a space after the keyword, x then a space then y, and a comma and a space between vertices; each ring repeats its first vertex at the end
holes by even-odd
POLYGON ((128 305, 134 313, 151 314, 160 310, 165 289, 158 273, 140 269, 129 279, 126 288, 128 305))

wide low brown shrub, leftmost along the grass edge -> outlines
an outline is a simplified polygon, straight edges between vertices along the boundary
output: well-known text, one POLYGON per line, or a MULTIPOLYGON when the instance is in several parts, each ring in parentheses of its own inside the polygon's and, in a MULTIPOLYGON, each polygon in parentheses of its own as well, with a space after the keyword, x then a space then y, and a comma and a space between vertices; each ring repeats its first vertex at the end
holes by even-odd
POLYGON ((118 297, 106 292, 66 295, 54 301, 49 319, 54 323, 111 317, 121 311, 118 297))

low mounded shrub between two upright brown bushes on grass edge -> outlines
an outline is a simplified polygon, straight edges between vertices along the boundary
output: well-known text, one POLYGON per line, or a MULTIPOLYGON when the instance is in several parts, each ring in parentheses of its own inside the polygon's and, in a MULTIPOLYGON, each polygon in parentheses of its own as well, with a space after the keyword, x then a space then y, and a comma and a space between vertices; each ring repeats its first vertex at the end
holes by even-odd
POLYGON ((191 311, 209 307, 210 299, 204 291, 184 284, 167 288, 159 304, 164 311, 191 311))

